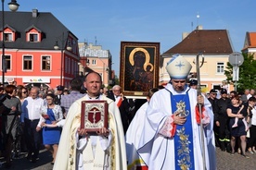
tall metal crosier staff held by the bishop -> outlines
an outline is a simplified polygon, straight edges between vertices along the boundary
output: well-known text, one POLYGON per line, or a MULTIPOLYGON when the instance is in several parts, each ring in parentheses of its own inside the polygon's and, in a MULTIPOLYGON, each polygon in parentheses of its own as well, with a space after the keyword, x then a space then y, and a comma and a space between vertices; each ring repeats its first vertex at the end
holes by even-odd
MULTIPOLYGON (((196 59, 196 64, 197 64, 197 79, 198 79, 198 85, 197 85, 197 91, 198 91, 198 95, 201 95, 201 87, 200 87, 200 67, 202 67, 203 65, 203 61, 202 64, 200 66, 199 63, 199 55, 197 55, 197 59, 196 59)), ((205 163, 205 145, 204 145, 204 130, 203 130, 203 125, 202 125, 202 104, 198 103, 198 111, 199 111, 199 115, 200 115, 200 132, 201 132, 201 143, 202 143, 202 162, 203 162, 203 169, 206 170, 206 163, 205 163)))

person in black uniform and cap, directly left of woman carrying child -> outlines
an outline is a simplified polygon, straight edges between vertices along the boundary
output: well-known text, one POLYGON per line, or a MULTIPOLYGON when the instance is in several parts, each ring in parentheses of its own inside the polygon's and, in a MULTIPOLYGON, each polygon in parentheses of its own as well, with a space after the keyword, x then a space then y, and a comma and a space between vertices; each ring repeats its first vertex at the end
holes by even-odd
POLYGON ((216 126, 219 127, 219 141, 220 148, 223 152, 231 152, 230 148, 230 129, 229 129, 229 117, 226 113, 227 105, 231 103, 231 100, 227 98, 227 91, 221 89, 221 98, 216 104, 216 126))

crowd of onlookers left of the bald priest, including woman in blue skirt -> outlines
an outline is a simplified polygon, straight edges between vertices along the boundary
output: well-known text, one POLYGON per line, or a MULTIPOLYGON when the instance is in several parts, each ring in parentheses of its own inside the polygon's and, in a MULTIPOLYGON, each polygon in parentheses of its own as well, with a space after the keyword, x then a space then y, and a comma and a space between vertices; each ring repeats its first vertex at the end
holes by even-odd
POLYGON ((71 103, 84 96, 82 85, 81 79, 71 79, 69 89, 28 89, 13 84, 0 87, 0 152, 6 158, 7 168, 21 152, 27 152, 29 162, 37 162, 42 146, 52 153, 51 164, 55 163, 61 125, 71 103))

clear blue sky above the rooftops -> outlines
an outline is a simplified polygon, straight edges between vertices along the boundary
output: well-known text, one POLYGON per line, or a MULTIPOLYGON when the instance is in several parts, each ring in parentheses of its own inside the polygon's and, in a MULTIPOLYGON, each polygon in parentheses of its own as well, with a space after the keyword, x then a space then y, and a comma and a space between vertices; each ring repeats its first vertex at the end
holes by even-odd
MULTIPOLYGON (((8 10, 5 1, 5 10, 8 10)), ((229 30, 234 51, 243 47, 247 31, 256 31, 255 0, 17 0, 19 11, 51 12, 79 42, 102 45, 113 56, 119 76, 122 41, 160 42, 160 54, 182 33, 229 30), (199 18, 197 18, 199 15, 199 18), (193 27, 192 27, 193 22, 193 27)))

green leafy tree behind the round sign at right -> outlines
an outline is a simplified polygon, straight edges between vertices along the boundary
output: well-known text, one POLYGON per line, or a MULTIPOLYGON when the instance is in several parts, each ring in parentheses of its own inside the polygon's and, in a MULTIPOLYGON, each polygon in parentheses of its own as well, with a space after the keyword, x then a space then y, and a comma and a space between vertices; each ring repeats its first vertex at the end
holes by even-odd
MULTIPOLYGON (((237 81, 237 91, 244 91, 245 89, 255 89, 256 84, 256 60, 253 55, 243 54, 244 63, 239 67, 239 79, 237 81)), ((233 67, 228 62, 226 70, 224 71, 227 82, 233 82, 233 67)))

